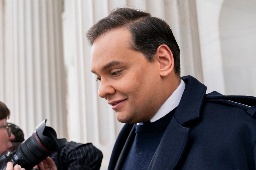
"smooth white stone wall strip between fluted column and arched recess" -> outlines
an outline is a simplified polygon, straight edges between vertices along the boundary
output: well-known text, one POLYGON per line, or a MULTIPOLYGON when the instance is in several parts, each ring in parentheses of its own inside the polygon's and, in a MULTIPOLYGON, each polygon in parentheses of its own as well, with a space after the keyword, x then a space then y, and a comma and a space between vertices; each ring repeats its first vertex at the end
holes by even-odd
POLYGON ((225 94, 219 19, 224 0, 196 0, 204 84, 207 93, 225 94))

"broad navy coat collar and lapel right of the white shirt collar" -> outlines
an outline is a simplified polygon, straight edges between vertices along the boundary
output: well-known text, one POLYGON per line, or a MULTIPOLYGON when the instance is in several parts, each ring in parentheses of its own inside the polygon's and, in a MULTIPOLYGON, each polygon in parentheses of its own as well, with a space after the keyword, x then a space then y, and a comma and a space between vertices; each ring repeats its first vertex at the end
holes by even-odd
POLYGON ((158 146, 152 169, 175 169, 189 142, 189 124, 200 117, 206 86, 192 76, 182 77, 186 84, 181 101, 158 146), (162 168, 161 168, 162 167, 162 168))

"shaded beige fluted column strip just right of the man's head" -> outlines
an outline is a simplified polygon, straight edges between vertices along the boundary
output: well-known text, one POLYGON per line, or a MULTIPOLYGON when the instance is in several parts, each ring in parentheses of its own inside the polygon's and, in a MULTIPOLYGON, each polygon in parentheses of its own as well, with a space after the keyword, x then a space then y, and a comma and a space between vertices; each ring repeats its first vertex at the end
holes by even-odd
POLYGON ((177 1, 181 50, 181 74, 203 83, 197 12, 195 0, 177 1))

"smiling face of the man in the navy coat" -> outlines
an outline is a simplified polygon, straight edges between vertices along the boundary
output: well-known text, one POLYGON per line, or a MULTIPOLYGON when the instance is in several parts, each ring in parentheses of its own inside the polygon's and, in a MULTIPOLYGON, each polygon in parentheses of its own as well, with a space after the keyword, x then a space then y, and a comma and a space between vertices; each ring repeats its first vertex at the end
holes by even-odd
POLYGON ((123 123, 150 120, 162 105, 159 63, 130 48, 130 32, 114 29, 94 42, 91 69, 100 80, 98 94, 123 123))

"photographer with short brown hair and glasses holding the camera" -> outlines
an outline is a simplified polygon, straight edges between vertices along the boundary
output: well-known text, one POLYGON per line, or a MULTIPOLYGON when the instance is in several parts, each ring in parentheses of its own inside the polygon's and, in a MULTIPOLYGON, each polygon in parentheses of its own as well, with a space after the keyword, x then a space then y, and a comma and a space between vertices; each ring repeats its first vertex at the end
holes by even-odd
MULTIPOLYGON (((7 124, 7 119, 9 119, 10 110, 7 106, 0 101, 0 154, 4 151, 9 150, 12 147, 11 141, 15 139, 14 135, 11 133, 11 124, 7 124)), ((38 165, 40 170, 57 170, 57 167, 51 158, 46 158, 38 165)), ((37 166, 35 168, 38 169, 37 166)), ((12 162, 7 163, 6 170, 25 170, 20 165, 15 165, 13 167, 12 162)))

